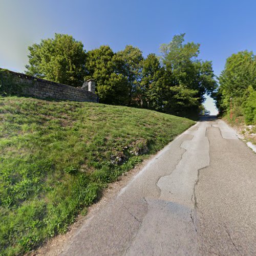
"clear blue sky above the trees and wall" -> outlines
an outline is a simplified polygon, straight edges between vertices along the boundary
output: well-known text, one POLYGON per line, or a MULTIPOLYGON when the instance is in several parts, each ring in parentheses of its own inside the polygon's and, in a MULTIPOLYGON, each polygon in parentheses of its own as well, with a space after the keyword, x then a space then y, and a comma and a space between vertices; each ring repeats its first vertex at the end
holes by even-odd
MULTIPOLYGON (((201 45, 220 75, 232 53, 256 50, 255 0, 0 0, 0 67, 24 72, 28 46, 54 33, 72 35, 88 51, 133 45, 159 54, 175 34, 201 45)), ((212 99, 205 106, 217 112, 212 99)))

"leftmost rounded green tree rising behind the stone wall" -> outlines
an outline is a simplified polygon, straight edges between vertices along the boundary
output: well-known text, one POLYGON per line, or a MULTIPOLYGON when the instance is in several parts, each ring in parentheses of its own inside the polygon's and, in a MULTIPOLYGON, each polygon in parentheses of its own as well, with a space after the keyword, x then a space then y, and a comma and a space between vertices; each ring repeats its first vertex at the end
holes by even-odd
POLYGON ((80 87, 86 75, 86 52, 72 36, 55 33, 29 48, 26 74, 80 87))

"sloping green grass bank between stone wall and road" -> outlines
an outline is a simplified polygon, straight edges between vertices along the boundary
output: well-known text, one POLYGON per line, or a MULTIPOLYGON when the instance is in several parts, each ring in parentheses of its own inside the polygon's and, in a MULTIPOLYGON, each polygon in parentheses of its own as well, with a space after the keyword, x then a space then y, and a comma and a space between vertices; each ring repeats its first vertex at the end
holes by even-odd
POLYGON ((67 231, 108 183, 192 124, 123 106, 0 97, 0 254, 67 231))

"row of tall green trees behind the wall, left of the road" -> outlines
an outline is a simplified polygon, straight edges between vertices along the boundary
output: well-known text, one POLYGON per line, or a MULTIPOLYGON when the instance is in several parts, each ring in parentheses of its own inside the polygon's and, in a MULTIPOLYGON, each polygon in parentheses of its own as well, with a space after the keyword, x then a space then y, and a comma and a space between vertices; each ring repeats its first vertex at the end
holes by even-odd
POLYGON ((86 52, 72 36, 55 34, 29 47, 26 73, 74 87, 93 78, 101 103, 189 116, 197 114, 205 93, 214 92, 217 83, 211 61, 198 58, 200 45, 185 44, 184 36, 175 35, 163 44, 160 56, 151 53, 144 58, 133 46, 86 52))

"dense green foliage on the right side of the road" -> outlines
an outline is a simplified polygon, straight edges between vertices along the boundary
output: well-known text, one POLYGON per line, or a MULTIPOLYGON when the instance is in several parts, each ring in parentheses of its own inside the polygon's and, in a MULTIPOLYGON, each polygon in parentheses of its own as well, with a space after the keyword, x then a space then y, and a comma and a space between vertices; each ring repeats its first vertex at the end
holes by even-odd
POLYGON ((232 118, 245 118, 247 124, 256 123, 256 58, 252 52, 242 51, 227 58, 215 95, 219 111, 232 118), (230 110, 231 108, 231 110, 230 110))

